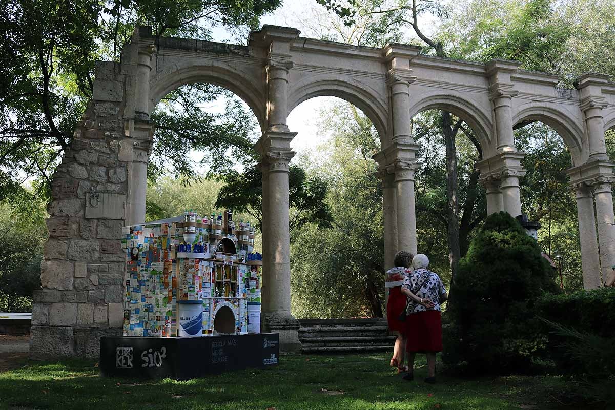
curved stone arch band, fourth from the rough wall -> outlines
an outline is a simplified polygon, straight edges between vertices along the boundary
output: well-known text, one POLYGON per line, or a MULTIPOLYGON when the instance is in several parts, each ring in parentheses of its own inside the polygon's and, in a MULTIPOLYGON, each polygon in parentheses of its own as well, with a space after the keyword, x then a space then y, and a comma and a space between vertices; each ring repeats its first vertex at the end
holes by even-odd
POLYGON ((583 130, 569 116, 555 108, 530 106, 520 109, 513 116, 512 124, 516 125, 526 120, 537 120, 552 127, 568 146, 573 165, 583 162, 583 130))

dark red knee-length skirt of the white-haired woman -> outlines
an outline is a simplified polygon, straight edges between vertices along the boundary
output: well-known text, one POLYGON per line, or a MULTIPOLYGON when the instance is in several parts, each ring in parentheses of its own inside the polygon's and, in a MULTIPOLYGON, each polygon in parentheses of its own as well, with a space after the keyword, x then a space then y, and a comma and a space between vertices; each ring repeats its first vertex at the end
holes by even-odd
POLYGON ((408 352, 442 352, 442 318, 440 310, 424 310, 406 317, 408 352))

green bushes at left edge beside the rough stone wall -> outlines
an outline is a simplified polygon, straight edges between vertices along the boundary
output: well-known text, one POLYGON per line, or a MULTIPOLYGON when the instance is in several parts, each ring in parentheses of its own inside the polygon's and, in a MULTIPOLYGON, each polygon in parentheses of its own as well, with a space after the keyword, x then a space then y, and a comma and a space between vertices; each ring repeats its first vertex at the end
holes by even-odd
POLYGON ((0 203, 0 311, 27 312, 41 286, 41 259, 47 240, 42 203, 28 211, 0 203))

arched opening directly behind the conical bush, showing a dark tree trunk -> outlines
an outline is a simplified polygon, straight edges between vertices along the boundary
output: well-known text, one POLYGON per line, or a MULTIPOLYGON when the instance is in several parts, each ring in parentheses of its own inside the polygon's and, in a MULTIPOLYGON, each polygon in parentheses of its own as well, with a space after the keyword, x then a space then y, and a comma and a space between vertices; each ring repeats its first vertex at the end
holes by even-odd
POLYGON ((493 151, 491 125, 480 109, 454 96, 421 98, 411 112, 423 162, 415 173, 418 252, 449 283, 487 215, 477 164, 493 151))

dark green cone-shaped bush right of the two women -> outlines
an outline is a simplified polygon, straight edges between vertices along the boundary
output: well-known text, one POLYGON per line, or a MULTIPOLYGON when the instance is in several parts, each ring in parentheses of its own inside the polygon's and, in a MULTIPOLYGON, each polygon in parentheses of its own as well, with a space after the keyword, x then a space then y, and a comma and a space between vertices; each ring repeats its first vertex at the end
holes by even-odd
POLYGON ((526 371, 544 347, 534 307, 558 291, 538 244, 507 213, 485 219, 459 264, 446 312, 443 360, 472 373, 526 371))

